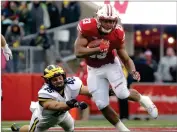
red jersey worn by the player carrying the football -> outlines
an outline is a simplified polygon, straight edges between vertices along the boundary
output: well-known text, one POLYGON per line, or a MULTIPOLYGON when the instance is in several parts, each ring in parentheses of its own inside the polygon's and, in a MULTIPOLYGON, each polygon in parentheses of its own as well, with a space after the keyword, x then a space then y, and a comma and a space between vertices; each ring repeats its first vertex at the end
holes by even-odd
POLYGON ((79 22, 77 29, 89 42, 95 39, 105 39, 110 42, 107 53, 99 53, 86 57, 87 65, 91 67, 101 67, 108 63, 114 63, 115 56, 112 54, 112 50, 119 48, 119 46, 124 43, 125 39, 124 30, 120 25, 116 26, 109 34, 102 35, 97 28, 96 19, 85 18, 79 22))

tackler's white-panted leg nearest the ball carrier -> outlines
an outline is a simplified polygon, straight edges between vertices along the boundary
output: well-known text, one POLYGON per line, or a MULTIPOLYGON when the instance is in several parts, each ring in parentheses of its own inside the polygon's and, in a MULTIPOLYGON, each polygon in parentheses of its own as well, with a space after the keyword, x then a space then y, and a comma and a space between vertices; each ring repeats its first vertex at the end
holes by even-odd
POLYGON ((65 113, 64 119, 58 124, 65 132, 74 132, 74 119, 69 112, 65 113))

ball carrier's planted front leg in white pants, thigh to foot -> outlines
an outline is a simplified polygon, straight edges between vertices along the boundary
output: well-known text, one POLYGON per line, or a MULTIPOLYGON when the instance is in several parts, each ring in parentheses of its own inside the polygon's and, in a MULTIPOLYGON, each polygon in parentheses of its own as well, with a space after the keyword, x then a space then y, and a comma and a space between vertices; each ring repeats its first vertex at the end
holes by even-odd
MULTIPOLYGON (((106 69, 103 69, 106 70, 106 69)), ((89 69, 87 84, 89 92, 104 117, 119 131, 129 131, 119 120, 117 113, 109 105, 109 82, 103 71, 89 69)))

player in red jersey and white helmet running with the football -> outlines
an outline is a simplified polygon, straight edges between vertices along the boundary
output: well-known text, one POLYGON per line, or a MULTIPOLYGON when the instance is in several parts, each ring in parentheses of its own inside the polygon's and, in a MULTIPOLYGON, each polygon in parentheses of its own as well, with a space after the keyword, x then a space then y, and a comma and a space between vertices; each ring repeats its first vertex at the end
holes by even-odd
POLYGON ((105 4, 98 9, 96 18, 81 20, 78 24, 79 32, 75 41, 75 55, 86 59, 89 92, 99 110, 116 129, 129 131, 109 105, 109 83, 118 98, 128 98, 139 102, 153 118, 157 118, 158 110, 149 97, 141 95, 134 89, 127 89, 121 64, 112 51, 117 50, 119 58, 135 80, 140 80, 140 74, 136 71, 132 59, 125 50, 125 33, 123 28, 118 25, 118 19, 119 14, 116 9, 110 4, 105 4), (106 41, 100 41, 100 45, 97 47, 88 48, 89 42, 95 39, 106 41))

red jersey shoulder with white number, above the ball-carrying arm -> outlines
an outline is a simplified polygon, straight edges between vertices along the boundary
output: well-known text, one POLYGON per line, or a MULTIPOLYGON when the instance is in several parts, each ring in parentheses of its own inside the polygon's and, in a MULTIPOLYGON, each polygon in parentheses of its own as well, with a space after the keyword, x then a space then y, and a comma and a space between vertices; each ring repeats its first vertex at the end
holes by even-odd
POLYGON ((88 35, 96 29, 96 20, 94 18, 82 19, 78 26, 78 31, 83 35, 88 35))

